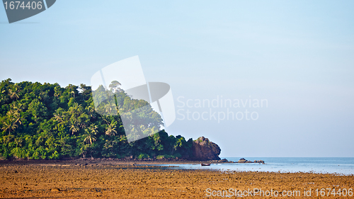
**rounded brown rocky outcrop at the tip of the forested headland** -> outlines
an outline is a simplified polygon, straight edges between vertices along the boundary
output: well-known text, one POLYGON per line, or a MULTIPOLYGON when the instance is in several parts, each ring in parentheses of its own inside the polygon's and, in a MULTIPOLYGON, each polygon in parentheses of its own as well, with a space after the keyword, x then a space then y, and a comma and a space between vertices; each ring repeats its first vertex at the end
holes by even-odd
POLYGON ((193 155, 198 160, 219 160, 221 149, 205 137, 199 137, 193 142, 193 155))

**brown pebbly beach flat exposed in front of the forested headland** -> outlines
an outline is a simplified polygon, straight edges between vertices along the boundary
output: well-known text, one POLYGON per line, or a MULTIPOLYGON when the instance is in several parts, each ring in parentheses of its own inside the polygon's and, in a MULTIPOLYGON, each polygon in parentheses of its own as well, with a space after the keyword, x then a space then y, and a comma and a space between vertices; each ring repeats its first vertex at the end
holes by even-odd
MULTIPOLYGON (((176 164, 176 161, 157 163, 176 164)), ((353 190, 353 175, 183 170, 139 164, 146 162, 3 162, 0 198, 211 198, 207 196, 217 197, 217 191, 219 194, 224 191, 224 196, 232 196, 235 191, 247 195, 253 188, 269 196, 252 192, 246 198, 287 198, 282 197, 283 191, 285 195, 299 194, 295 198, 310 198, 304 196, 304 191, 309 194, 310 188, 311 198, 354 198, 348 193, 346 197, 338 193, 339 188, 341 193, 343 188, 347 192, 353 190), (336 194, 327 196, 326 190, 325 196, 320 197, 321 188, 335 189, 336 194)))

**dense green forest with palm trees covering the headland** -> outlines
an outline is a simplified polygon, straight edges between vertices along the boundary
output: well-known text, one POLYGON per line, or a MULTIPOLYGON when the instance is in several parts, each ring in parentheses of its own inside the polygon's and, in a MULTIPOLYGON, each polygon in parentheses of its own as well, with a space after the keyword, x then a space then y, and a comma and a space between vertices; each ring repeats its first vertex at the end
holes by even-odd
MULTIPOLYGON (((112 91, 120 109, 147 105, 122 89, 112 91)), ((153 124, 144 124, 148 134, 163 125, 152 109, 142 117, 153 124)), ((120 115, 99 115, 91 86, 85 84, 62 88, 59 84, 1 81, 0 130, 0 159, 193 158, 192 139, 169 136, 164 130, 128 143, 120 115)))

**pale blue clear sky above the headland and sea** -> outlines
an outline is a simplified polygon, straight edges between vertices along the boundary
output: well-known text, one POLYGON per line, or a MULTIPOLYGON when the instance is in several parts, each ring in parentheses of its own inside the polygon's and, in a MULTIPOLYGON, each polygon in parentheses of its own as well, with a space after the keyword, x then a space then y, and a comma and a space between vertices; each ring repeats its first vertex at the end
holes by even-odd
POLYGON ((90 85, 138 55, 147 81, 171 86, 171 135, 205 136, 221 157, 354 157, 353 6, 58 0, 11 24, 1 7, 0 79, 90 85))

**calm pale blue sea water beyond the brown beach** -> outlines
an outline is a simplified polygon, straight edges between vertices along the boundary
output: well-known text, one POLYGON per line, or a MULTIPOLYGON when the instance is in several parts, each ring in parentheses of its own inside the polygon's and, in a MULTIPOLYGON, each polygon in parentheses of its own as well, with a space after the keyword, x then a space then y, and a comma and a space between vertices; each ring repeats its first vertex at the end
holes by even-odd
MULTIPOLYGON (((222 157, 231 161, 238 161, 239 157, 222 157)), ((275 171, 275 172, 314 172, 322 174, 354 174, 354 158, 322 158, 322 157, 245 157, 247 160, 263 160, 265 164, 164 164, 164 166, 178 166, 176 169, 216 169, 222 171, 275 171)))

